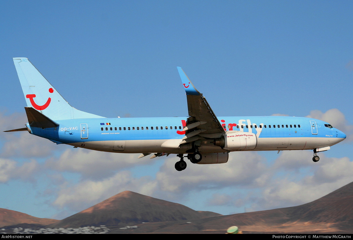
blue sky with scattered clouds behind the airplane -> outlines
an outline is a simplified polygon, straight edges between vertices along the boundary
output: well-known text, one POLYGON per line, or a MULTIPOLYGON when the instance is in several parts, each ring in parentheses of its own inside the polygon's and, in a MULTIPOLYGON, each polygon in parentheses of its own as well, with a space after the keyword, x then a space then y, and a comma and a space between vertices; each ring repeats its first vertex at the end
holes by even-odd
POLYGON ((0 9, 1 130, 26 123, 12 57, 79 110, 186 116, 177 66, 217 116, 311 116, 347 139, 311 151, 232 153, 174 170, 0 133, 0 208, 62 219, 124 190, 221 214, 299 205, 353 181, 352 1, 7 1, 0 9))

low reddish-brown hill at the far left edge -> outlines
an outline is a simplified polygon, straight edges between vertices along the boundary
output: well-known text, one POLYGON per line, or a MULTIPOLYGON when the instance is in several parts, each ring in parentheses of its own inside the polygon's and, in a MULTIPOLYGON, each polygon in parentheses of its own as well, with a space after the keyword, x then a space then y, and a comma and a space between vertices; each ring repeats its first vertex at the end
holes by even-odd
POLYGON ((39 217, 34 217, 25 213, 20 213, 18 211, 8 210, 5 208, 0 208, 0 227, 17 225, 20 223, 28 224, 38 224, 46 226, 58 222, 55 219, 41 219, 39 217))

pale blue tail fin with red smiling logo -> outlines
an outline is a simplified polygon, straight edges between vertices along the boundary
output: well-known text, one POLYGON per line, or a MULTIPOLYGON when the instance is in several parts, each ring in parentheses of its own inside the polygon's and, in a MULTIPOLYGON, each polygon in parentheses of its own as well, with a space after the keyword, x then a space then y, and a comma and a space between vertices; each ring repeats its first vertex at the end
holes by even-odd
MULTIPOLYGON (((72 107, 26 57, 14 57, 27 106, 49 119, 103 118, 72 107)), ((27 111, 27 110, 26 110, 27 111)))

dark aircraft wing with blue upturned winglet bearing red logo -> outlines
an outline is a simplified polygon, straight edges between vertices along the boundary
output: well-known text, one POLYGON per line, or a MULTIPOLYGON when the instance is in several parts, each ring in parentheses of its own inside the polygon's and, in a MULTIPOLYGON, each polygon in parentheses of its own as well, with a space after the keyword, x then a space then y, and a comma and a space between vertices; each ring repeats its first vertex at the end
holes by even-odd
POLYGON ((202 93, 196 90, 181 67, 177 67, 186 92, 189 118, 186 121, 185 137, 180 144, 196 141, 202 137, 217 138, 225 134, 221 123, 202 93))

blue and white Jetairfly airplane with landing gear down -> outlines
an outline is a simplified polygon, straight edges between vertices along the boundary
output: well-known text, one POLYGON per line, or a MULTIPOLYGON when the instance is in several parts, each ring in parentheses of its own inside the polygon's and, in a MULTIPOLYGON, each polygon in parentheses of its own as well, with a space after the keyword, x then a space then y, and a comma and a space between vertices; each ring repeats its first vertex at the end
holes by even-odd
POLYGON ((25 128, 56 144, 113 153, 177 154, 177 171, 193 164, 221 164, 230 152, 313 150, 343 141, 346 134, 327 122, 306 117, 255 116, 217 118, 205 97, 177 67, 186 92, 189 117, 106 118, 72 107, 25 57, 14 57, 27 106, 25 128), (220 120, 219 120, 220 119, 220 120))

